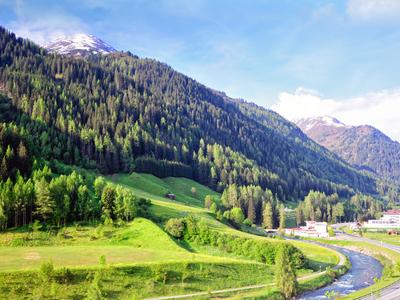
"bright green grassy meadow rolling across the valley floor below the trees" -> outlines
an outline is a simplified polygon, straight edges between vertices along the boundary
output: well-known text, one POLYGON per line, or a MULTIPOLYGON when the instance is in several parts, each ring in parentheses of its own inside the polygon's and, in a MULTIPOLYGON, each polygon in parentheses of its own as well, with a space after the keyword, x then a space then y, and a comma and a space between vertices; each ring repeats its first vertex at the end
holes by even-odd
MULTIPOLYGON (((0 234, 0 295, 9 298, 13 295, 27 295, 27 298, 61 295, 61 298, 81 299, 98 270, 102 274, 101 290, 110 298, 184 294, 260 283, 273 285, 273 266, 214 247, 190 245, 188 250, 161 228, 168 218, 194 214, 204 218, 213 230, 265 239, 233 229, 204 209, 204 197, 213 195, 218 201, 218 193, 186 178, 160 179, 133 173, 113 175, 107 180, 150 199, 151 213, 160 224, 136 218, 120 226, 79 224, 58 232, 32 233, 26 228, 3 232, 0 234), (175 194, 176 200, 167 199, 166 193, 175 194), (105 257, 106 267, 99 265, 100 256, 105 257), (66 285, 55 279, 51 288, 41 288, 43 284, 40 284, 37 270, 50 260, 56 270, 55 278, 59 278, 57 274, 62 272, 62 267, 67 267, 73 274, 73 281, 66 285)), ((299 241, 290 243, 301 249, 310 261, 310 269, 299 270, 299 276, 338 262, 337 253, 332 250, 299 241)))

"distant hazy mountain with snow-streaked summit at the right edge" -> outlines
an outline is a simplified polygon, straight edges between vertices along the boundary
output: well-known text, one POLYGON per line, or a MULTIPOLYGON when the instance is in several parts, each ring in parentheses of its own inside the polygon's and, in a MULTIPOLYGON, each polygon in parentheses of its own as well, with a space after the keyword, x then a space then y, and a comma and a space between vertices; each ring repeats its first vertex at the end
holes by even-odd
POLYGON ((301 119, 296 124, 348 163, 400 181, 400 144, 378 129, 368 125, 348 126, 328 116, 301 119))

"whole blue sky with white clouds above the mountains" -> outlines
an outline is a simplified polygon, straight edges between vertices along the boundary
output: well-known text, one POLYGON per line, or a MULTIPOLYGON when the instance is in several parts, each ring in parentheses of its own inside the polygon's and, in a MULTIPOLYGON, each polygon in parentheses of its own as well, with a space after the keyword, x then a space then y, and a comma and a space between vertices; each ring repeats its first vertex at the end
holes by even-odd
POLYGON ((400 141, 400 0, 0 0, 0 25, 39 44, 93 34, 290 120, 400 141))

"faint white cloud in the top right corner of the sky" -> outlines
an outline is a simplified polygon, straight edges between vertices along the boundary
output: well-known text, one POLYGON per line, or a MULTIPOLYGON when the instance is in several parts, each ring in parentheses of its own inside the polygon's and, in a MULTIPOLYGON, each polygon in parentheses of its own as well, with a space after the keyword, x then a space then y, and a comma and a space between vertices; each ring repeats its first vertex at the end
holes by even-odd
POLYGON ((362 20, 400 17, 399 0, 349 0, 347 14, 362 20))

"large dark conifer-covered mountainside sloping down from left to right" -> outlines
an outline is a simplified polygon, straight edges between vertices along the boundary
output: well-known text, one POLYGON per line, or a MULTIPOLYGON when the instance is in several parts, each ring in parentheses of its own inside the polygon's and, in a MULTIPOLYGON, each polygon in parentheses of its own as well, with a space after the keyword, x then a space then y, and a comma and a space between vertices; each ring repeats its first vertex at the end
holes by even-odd
MULTIPOLYGON (((103 173, 184 176, 222 191, 375 193, 373 178, 321 148, 277 114, 238 103, 169 66, 130 53, 48 54, 0 29, 1 122, 34 155, 103 173)), ((14 145, 15 147, 15 145, 14 145)))

